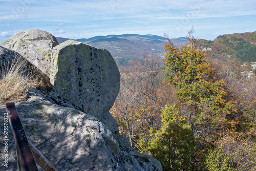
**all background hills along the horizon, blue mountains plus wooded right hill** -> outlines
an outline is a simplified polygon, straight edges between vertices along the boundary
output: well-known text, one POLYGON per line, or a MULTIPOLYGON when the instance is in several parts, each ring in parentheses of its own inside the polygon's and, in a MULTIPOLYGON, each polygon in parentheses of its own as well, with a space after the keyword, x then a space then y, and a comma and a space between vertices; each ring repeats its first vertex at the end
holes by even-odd
MULTIPOLYGON (((56 38, 59 43, 69 39, 56 38)), ((133 57, 140 58, 145 50, 150 55, 154 53, 161 57, 165 53, 163 42, 166 42, 164 37, 151 34, 107 35, 76 40, 97 48, 109 50, 120 65, 124 65, 133 57)), ((174 38, 172 41, 178 47, 188 44, 188 40, 185 37, 174 38)), ((213 41, 197 39, 197 44, 201 50, 205 50, 205 53, 212 57, 222 55, 236 57, 241 62, 256 61, 256 31, 252 33, 224 34, 213 41)))

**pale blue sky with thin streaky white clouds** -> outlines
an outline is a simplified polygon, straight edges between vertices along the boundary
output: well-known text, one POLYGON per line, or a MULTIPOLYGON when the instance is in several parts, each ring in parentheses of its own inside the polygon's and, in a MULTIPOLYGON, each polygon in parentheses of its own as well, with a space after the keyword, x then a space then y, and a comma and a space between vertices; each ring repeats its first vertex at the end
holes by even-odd
POLYGON ((254 0, 0 0, 0 42, 28 29, 56 37, 90 38, 108 34, 195 36, 256 31, 254 0))

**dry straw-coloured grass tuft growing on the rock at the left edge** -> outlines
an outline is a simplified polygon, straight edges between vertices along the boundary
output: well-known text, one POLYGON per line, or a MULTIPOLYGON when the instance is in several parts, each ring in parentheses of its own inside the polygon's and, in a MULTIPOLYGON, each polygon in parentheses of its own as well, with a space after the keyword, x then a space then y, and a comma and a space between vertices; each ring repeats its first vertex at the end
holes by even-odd
POLYGON ((27 60, 16 54, 11 62, 2 66, 7 67, 2 68, 3 74, 0 76, 0 103, 16 98, 25 99, 26 92, 35 85, 33 74, 26 68, 27 60))

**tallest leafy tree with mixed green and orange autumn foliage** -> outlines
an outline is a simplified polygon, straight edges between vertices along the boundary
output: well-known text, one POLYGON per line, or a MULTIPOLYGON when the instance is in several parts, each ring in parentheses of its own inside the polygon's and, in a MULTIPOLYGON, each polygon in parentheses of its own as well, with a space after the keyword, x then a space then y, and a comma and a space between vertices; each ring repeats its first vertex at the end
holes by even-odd
POLYGON ((208 56, 193 42, 178 49, 169 39, 165 50, 167 80, 176 88, 180 102, 188 106, 186 117, 194 135, 210 141, 226 114, 233 111, 233 101, 225 99, 225 81, 217 80, 208 56))

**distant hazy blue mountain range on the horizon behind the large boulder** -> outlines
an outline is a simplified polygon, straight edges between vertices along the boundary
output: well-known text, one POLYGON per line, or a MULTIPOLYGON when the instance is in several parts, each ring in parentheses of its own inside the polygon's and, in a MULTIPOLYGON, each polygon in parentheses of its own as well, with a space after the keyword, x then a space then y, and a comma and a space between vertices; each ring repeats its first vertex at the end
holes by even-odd
MULTIPOLYGON (((68 40, 69 38, 56 37, 58 42, 68 40)), ((172 39, 176 46, 187 44, 185 37, 172 39)), ((107 36, 95 36, 91 38, 80 38, 76 41, 84 42, 85 44, 97 47, 105 48, 110 51, 115 59, 123 64, 124 60, 129 60, 133 57, 140 58, 143 51, 147 51, 148 54, 154 53, 158 56, 163 56, 165 51, 163 49, 163 42, 166 39, 157 35, 139 35, 139 34, 122 34, 122 35, 107 35, 107 36)))

